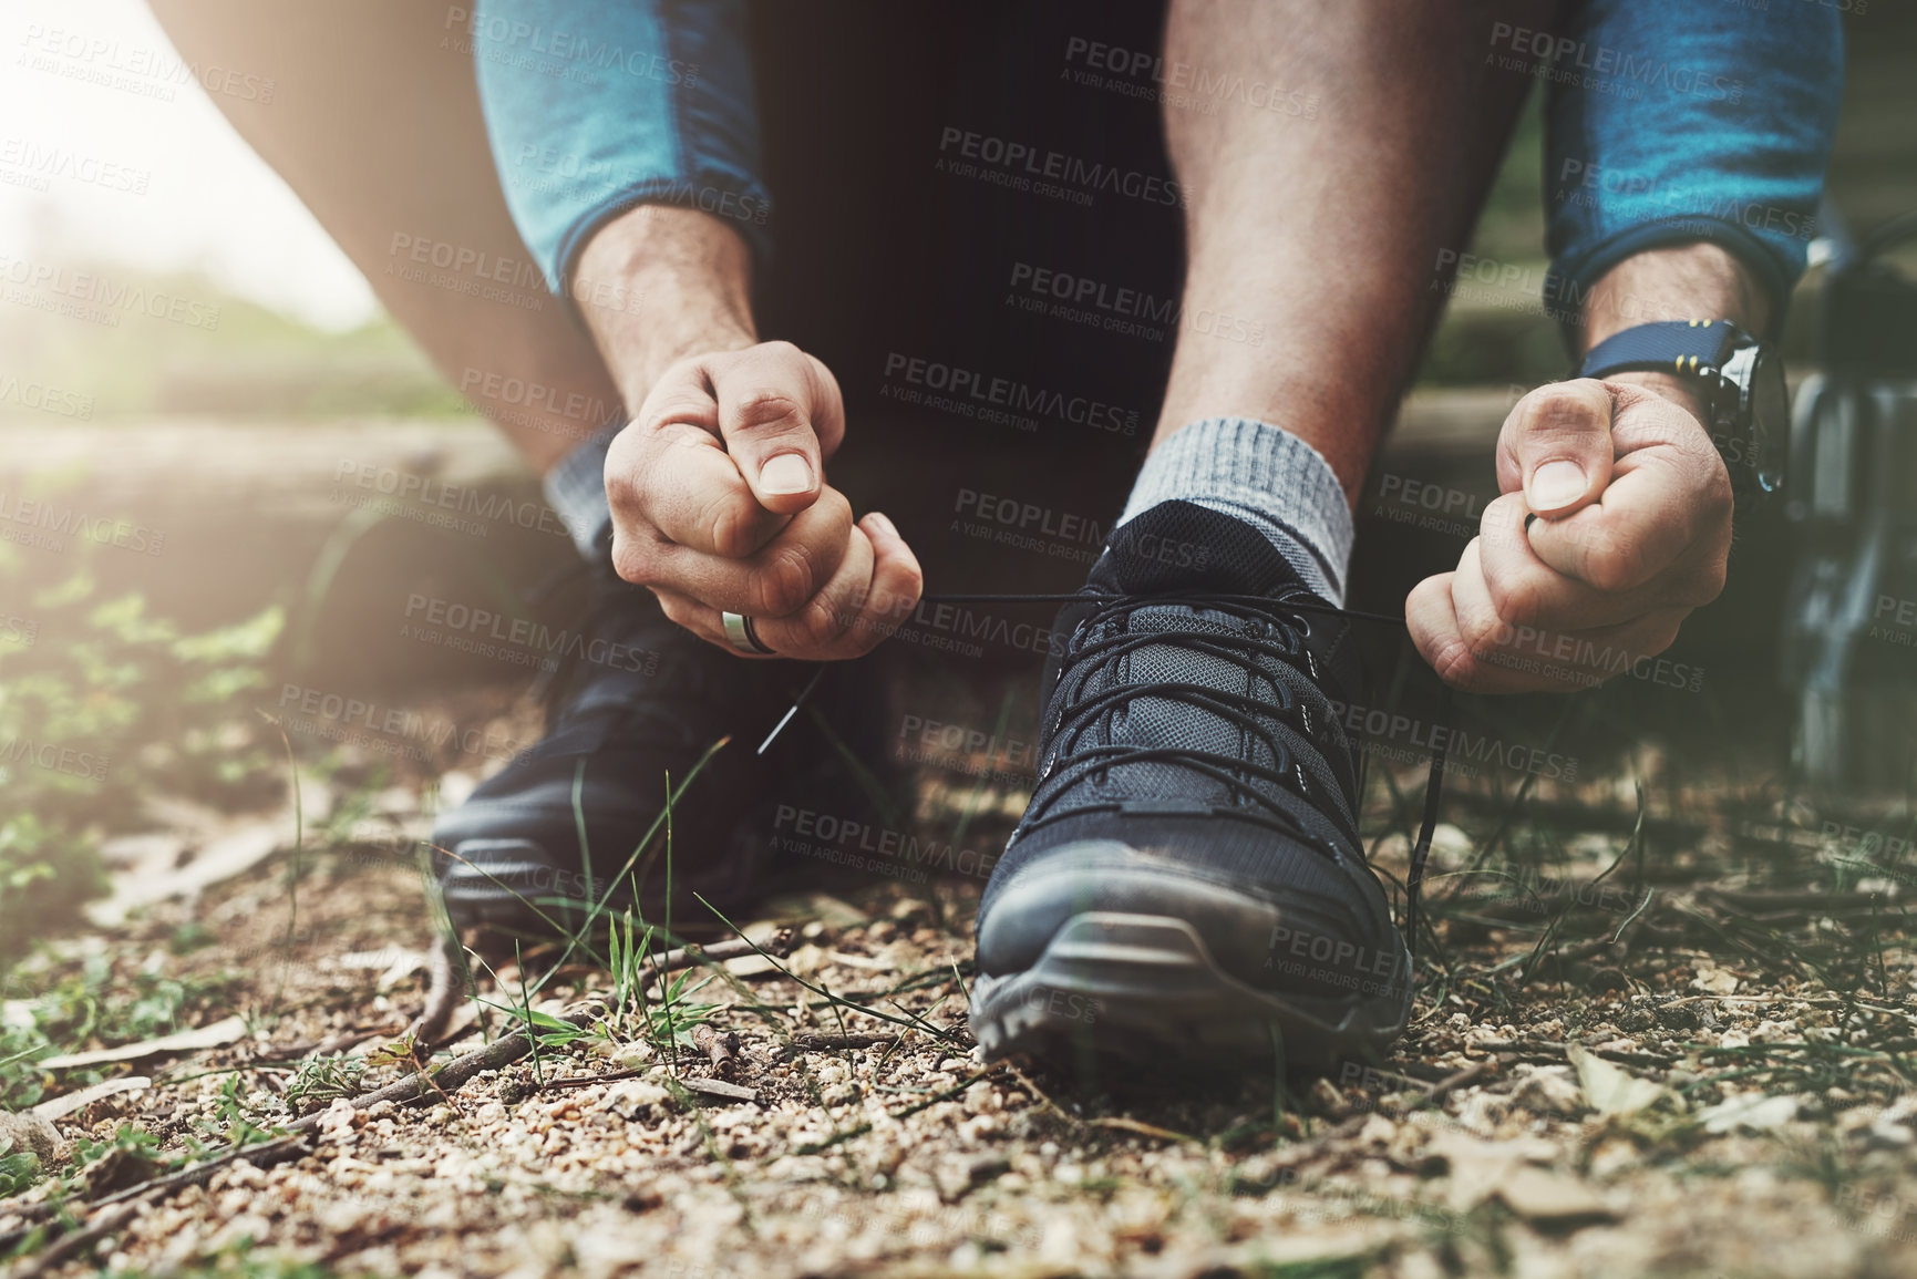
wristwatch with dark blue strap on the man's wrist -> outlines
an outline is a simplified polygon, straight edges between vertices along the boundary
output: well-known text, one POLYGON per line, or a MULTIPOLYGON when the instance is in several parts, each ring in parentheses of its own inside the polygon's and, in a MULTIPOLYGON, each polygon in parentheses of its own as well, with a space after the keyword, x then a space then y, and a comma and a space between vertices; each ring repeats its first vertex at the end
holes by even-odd
POLYGON ((1664 320, 1612 334, 1578 366, 1580 378, 1628 372, 1698 382, 1739 508, 1783 487, 1790 403, 1783 360, 1762 341, 1729 320, 1664 320))

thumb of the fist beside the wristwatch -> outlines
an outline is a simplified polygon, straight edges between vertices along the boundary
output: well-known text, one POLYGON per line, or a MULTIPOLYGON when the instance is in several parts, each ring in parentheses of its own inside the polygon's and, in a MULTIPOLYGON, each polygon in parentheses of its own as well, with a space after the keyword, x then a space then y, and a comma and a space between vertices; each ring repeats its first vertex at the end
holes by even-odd
POLYGON ((1524 491, 1539 516, 1568 516, 1610 483, 1610 391, 1595 378, 1541 385, 1513 408, 1497 437, 1497 485, 1524 491))

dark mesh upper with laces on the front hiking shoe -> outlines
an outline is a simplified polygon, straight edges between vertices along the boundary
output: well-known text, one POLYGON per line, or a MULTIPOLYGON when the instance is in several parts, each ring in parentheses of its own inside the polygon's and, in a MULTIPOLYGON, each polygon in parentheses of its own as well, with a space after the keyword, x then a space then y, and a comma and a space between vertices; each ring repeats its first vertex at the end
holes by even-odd
MULTIPOLYGON (((1373 972, 1396 966, 1334 713, 1361 675, 1346 631, 1238 520, 1164 502, 1120 527, 1054 627, 1039 782, 980 905, 982 972, 1031 963, 1060 920, 1012 890, 1068 863, 1085 880, 1074 909, 1150 911, 1152 876, 1175 874, 1273 901, 1292 936, 1373 972), (1008 892, 1026 905, 1001 915, 1008 892)), ((1284 976, 1273 936, 1208 942, 1254 986, 1342 980, 1284 976)))

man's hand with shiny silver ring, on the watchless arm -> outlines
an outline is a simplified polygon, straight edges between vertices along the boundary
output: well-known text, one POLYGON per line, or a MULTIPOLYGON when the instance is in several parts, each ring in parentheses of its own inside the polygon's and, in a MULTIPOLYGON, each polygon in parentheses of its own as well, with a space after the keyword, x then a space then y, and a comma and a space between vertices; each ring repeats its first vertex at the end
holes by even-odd
POLYGON ((728 652, 719 614, 784 658, 870 652, 918 604, 918 560, 882 514, 826 485, 838 382, 788 341, 671 364, 612 443, 612 560, 665 616, 728 652))

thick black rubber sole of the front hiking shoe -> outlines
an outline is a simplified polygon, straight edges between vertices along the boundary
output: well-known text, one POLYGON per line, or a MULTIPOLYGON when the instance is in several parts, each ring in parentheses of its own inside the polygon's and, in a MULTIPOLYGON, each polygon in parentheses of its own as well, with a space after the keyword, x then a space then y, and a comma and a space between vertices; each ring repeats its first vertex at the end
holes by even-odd
POLYGON ((1386 993, 1282 997, 1233 978, 1183 919, 1085 911, 1068 919, 1024 972, 980 976, 972 1034, 987 1058, 1087 1053, 1189 1070, 1323 1074, 1374 1060, 1405 1030, 1411 955, 1399 947, 1386 993))

